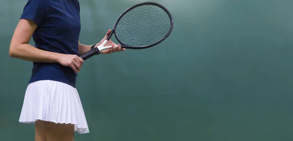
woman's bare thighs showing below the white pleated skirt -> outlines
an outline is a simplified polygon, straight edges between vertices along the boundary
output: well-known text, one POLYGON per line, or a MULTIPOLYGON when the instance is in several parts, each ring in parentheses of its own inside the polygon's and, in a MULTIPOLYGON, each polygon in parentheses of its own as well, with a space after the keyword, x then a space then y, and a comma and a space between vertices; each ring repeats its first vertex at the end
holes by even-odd
POLYGON ((39 124, 42 124, 45 135, 45 140, 40 141, 74 141, 74 124, 56 124, 48 121, 39 121, 39 124))

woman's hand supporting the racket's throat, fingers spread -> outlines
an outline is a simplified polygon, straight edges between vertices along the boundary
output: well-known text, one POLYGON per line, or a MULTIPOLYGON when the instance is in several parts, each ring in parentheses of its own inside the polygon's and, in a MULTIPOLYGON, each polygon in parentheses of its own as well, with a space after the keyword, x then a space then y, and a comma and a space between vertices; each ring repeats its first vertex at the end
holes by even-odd
MULTIPOLYGON (((104 40, 106 40, 108 38, 108 36, 109 36, 110 33, 111 33, 111 29, 108 30, 108 32, 106 33, 105 37, 99 43, 97 43, 96 46, 99 46, 101 43, 103 43, 104 40)), ((120 44, 118 44, 117 47, 115 47, 115 45, 117 45, 117 44, 114 43, 112 40, 108 40, 108 42, 105 44, 105 46, 112 46, 112 48, 109 47, 108 49, 103 50, 100 53, 102 53, 102 54, 109 54, 109 53, 112 53, 112 52, 119 52, 121 50, 122 51, 125 50, 125 48, 121 48, 121 45, 120 44)))

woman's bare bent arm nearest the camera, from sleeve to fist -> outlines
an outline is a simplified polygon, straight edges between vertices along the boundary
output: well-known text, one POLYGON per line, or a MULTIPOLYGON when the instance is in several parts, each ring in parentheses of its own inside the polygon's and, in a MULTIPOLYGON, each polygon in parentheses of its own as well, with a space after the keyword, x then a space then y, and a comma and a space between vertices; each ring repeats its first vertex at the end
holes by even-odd
POLYGON ((63 66, 70 66, 78 73, 84 62, 80 57, 44 51, 28 44, 36 28, 37 24, 33 20, 19 21, 10 42, 9 56, 34 62, 57 62, 63 66))

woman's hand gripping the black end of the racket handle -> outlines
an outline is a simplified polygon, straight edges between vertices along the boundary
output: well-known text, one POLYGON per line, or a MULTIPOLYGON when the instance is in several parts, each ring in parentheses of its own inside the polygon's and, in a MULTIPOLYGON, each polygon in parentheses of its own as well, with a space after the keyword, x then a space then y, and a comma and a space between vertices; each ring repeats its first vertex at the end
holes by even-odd
POLYGON ((70 54, 60 54, 57 61, 63 66, 70 66, 76 73, 79 73, 84 63, 82 58, 70 54))

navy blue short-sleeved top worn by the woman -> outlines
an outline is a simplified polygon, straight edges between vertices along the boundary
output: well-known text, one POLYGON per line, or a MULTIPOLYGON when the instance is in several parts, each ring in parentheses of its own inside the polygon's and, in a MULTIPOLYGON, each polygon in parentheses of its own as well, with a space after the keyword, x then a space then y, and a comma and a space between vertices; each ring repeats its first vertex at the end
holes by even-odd
MULTIPOLYGON (((28 0, 21 19, 33 20, 35 47, 62 54, 78 55, 81 30, 78 0, 28 0)), ((53 80, 76 87, 77 74, 59 63, 33 62, 29 83, 53 80)))

